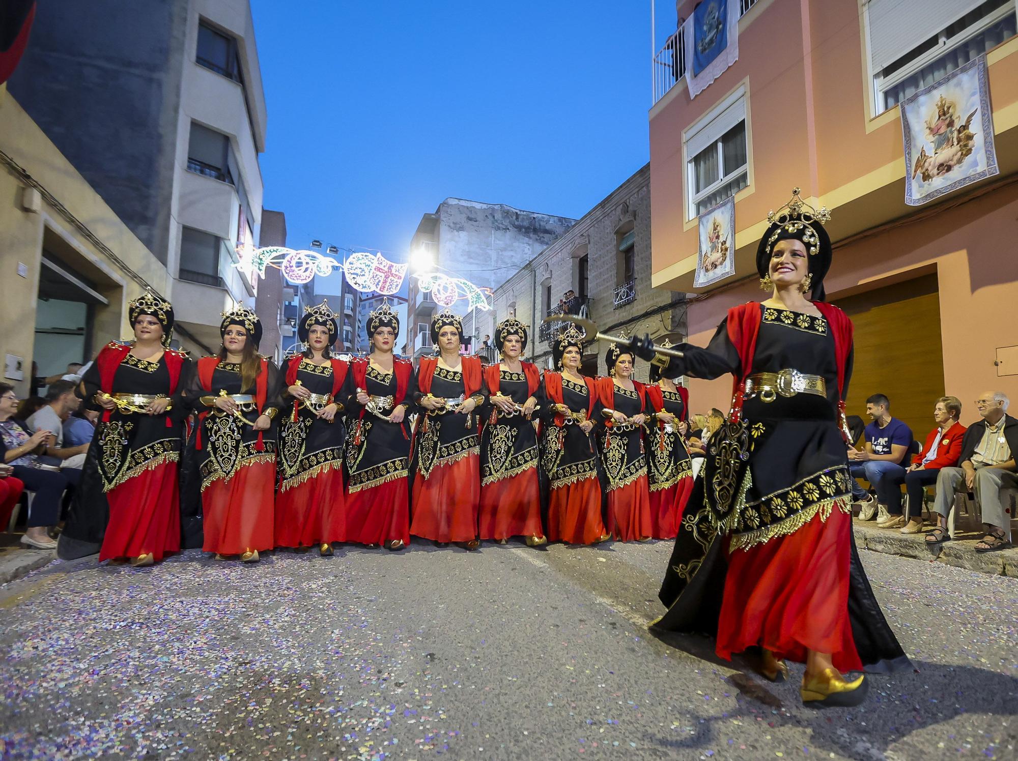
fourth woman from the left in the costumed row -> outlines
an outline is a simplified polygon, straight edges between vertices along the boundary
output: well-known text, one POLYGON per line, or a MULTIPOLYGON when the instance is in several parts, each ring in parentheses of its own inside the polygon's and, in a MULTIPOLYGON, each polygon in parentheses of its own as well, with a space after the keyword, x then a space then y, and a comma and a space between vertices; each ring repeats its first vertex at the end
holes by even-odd
POLYGON ((372 353, 350 363, 346 538, 398 550, 410 543, 410 394, 413 364, 396 359, 399 318, 386 299, 367 314, 372 353))

